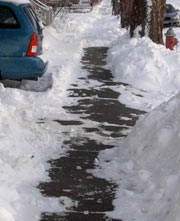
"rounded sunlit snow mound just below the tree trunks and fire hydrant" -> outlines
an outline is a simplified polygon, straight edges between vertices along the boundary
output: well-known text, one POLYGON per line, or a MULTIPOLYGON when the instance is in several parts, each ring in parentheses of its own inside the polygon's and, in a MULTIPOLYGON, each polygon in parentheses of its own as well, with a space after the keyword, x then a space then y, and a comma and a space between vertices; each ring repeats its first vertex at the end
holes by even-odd
POLYGON ((120 38, 116 43, 110 50, 116 79, 148 91, 177 91, 180 86, 178 53, 148 38, 120 38))

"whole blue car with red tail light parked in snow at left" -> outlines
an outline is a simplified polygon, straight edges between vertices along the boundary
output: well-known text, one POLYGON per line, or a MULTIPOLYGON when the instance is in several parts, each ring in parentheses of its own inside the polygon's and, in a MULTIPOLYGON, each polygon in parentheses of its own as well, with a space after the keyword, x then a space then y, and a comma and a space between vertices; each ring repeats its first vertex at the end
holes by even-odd
POLYGON ((42 28, 29 1, 0 0, 0 78, 37 79, 42 59, 42 28))

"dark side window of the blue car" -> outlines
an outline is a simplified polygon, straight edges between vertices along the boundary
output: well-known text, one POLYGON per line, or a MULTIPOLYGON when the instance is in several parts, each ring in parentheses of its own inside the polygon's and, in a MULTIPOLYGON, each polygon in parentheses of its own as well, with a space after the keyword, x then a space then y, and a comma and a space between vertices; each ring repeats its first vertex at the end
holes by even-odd
POLYGON ((0 6, 0 28, 19 28, 20 25, 13 11, 5 6, 0 6))

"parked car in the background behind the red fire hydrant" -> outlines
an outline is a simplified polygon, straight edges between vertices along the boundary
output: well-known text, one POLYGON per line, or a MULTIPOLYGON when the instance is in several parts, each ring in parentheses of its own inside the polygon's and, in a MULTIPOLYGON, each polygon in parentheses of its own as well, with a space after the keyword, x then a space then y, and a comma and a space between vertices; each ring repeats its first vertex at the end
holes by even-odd
POLYGON ((179 10, 175 9, 171 4, 166 4, 166 13, 163 24, 164 26, 180 26, 179 10))

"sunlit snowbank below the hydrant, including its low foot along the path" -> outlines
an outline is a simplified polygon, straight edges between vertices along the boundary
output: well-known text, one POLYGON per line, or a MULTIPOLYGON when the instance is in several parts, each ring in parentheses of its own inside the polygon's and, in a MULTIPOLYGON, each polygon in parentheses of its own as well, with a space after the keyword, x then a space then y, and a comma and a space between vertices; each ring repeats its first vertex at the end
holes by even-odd
POLYGON ((129 94, 123 94, 120 100, 124 103, 151 110, 179 91, 180 53, 154 44, 149 38, 128 39, 127 33, 120 36, 109 50, 108 62, 115 80, 131 84, 144 97, 137 96, 131 104, 129 94), (138 106, 139 102, 144 106, 138 106))

